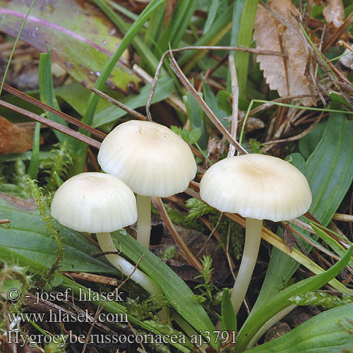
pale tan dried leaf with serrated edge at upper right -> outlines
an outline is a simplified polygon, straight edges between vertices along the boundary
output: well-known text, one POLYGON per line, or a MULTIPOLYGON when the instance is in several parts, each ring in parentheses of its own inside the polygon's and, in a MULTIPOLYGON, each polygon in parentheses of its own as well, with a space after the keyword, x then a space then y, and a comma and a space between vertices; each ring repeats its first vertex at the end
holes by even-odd
MULTIPOLYGON (((301 32, 295 18, 297 9, 292 1, 273 0, 270 7, 301 32)), ((259 6, 253 37, 256 40, 256 49, 273 50, 287 56, 258 55, 256 58, 271 90, 278 90, 281 97, 312 94, 309 80, 305 76, 309 51, 294 30, 259 6)), ((311 105, 313 100, 310 97, 302 98, 301 104, 311 105)))

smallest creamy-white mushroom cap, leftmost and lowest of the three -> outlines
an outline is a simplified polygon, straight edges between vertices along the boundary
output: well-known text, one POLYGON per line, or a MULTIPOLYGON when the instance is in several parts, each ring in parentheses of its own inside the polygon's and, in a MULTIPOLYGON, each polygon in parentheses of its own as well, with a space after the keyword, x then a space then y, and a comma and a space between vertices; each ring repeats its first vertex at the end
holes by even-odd
POLYGON ((78 232, 113 232, 137 220, 133 191, 118 178, 102 173, 81 173, 56 191, 52 216, 78 232))

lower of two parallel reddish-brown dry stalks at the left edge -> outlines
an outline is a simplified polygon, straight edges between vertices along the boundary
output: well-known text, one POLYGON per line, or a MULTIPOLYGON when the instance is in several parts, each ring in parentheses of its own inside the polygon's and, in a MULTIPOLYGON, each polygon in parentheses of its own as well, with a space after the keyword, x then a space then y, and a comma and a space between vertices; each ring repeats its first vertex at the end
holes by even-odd
POLYGON ((87 143, 88 145, 91 145, 92 147, 100 148, 101 143, 99 141, 93 140, 93 138, 85 136, 85 135, 83 135, 83 133, 79 133, 78 131, 75 131, 72 128, 67 128, 66 126, 58 124, 55 121, 44 118, 44 116, 40 116, 35 113, 28 112, 28 110, 22 109, 20 107, 16 107, 16 105, 10 104, 8 102, 4 102, 4 100, 0 100, 0 105, 2 107, 13 110, 14 112, 18 112, 20 114, 28 116, 28 118, 30 118, 30 119, 33 119, 35 121, 39 121, 40 123, 42 123, 44 125, 47 125, 51 128, 54 128, 57 131, 60 131, 61 133, 65 133, 68 136, 71 136, 73 138, 76 138, 77 140, 80 140, 84 143, 87 143))

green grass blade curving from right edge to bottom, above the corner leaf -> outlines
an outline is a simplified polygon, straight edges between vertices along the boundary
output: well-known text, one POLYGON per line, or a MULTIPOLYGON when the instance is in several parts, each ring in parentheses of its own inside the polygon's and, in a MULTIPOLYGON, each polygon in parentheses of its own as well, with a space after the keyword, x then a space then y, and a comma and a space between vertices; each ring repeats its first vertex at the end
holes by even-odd
POLYGON ((341 258, 340 261, 335 263, 330 269, 321 275, 316 275, 314 277, 306 278, 306 280, 301 280, 281 292, 275 294, 272 299, 269 299, 266 304, 264 304, 258 311, 256 311, 253 316, 248 318, 244 325, 239 330, 239 335, 237 336, 237 352, 241 353, 244 351, 246 345, 250 342, 251 338, 256 335, 261 326, 266 323, 270 318, 272 318, 276 313, 279 313, 287 306, 292 305, 289 301, 289 297, 295 294, 303 294, 311 290, 316 290, 321 288, 327 282, 332 280, 337 276, 347 265, 349 259, 352 257, 353 246, 351 246, 345 256, 341 258))

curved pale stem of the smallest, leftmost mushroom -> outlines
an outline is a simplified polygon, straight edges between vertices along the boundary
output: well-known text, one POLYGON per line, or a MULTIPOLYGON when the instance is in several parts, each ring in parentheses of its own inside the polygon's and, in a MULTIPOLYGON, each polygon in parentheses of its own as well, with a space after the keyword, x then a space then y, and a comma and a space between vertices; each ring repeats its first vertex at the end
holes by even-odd
POLYGON ((125 258, 122 258, 121 256, 117 255, 118 251, 116 250, 110 233, 97 233, 96 235, 98 243, 100 244, 100 249, 102 249, 102 251, 113 251, 114 253, 116 253, 111 253, 105 256, 109 263, 112 263, 115 268, 117 268, 121 273, 126 275, 126 277, 130 277, 133 282, 136 282, 138 285, 143 287, 148 293, 162 294, 160 288, 153 280, 150 279, 150 277, 145 275, 145 273, 143 273, 141 270, 138 270, 138 268, 136 268, 135 272, 133 272, 135 266, 131 265, 131 263, 126 261, 125 258))

